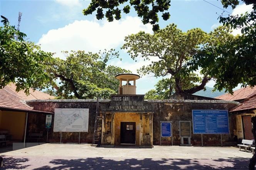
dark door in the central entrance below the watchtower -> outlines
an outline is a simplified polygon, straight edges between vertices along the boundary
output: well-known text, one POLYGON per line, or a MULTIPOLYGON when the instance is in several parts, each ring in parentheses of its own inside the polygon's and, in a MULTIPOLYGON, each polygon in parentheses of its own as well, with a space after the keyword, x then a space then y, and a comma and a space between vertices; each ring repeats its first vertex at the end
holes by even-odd
POLYGON ((135 144, 135 122, 121 122, 121 144, 135 144))

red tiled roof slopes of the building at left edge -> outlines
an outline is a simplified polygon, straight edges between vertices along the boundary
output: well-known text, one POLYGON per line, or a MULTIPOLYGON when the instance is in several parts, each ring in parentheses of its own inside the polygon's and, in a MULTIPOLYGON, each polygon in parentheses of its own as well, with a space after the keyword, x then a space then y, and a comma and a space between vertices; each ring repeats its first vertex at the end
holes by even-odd
MULTIPOLYGON (((15 86, 15 85, 14 85, 15 86)), ((18 111, 28 111, 28 112, 43 112, 35 111, 32 107, 28 106, 25 103, 25 100, 30 99, 52 99, 53 96, 45 94, 40 91, 32 91, 30 95, 27 96, 24 91, 15 91, 16 87, 13 87, 13 84, 5 86, 3 89, 0 89, 0 109, 6 110, 18 110, 18 111)), ((50 113, 50 112, 45 112, 50 113)))

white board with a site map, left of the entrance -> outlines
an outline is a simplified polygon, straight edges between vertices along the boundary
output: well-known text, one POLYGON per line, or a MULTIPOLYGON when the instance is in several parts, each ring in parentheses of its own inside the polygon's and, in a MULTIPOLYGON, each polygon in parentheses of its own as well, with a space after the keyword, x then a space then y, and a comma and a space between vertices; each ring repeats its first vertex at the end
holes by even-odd
POLYGON ((55 108, 54 132, 88 132, 89 109, 55 108))

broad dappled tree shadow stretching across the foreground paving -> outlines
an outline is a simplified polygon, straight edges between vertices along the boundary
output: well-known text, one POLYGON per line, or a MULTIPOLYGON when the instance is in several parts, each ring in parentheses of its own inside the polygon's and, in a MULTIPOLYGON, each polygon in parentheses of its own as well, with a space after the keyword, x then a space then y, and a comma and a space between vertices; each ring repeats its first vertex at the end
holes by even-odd
MULTIPOLYGON (((44 166, 36 165, 37 162, 29 162, 27 158, 14 159, 7 157, 2 169, 90 169, 90 170, 116 170, 116 169, 248 169, 249 158, 228 158, 228 159, 169 159, 162 158, 159 160, 144 158, 80 158, 80 159, 54 159, 44 162, 44 166)), ((41 164, 42 165, 42 164, 41 164)), ((0 168, 1 169, 1 168, 0 168)))

